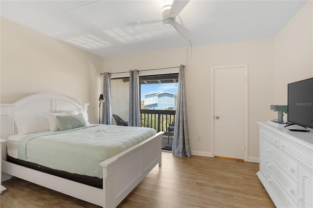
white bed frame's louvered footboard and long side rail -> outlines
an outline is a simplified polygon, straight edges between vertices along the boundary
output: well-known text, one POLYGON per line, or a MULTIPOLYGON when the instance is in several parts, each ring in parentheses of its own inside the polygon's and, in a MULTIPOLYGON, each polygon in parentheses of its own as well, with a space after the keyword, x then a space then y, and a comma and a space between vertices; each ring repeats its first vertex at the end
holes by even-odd
POLYGON ((163 134, 164 132, 159 132, 102 162, 100 165, 103 167, 103 189, 4 160, 2 160, 2 171, 104 208, 115 208, 157 164, 161 165, 163 134))

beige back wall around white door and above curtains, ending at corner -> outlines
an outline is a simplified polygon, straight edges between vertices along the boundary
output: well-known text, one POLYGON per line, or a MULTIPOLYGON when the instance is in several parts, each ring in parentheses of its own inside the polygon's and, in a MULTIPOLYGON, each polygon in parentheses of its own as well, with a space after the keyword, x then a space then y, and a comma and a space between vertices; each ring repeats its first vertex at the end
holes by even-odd
MULTIPOLYGON (((211 67, 248 64, 249 76, 249 155, 258 158, 257 121, 272 119, 269 105, 273 96, 273 38, 176 48, 104 59, 104 71, 122 72, 130 69, 152 69, 186 65, 185 81, 190 146, 193 154, 211 156, 211 67), (191 53, 191 54, 190 54, 191 53), (171 57, 171 59, 167 59, 171 57), (190 58, 191 57, 191 58, 190 58), (270 84, 265 84, 269 81, 270 84), (262 102, 260 102, 260 100, 262 102), (201 136, 201 142, 197 141, 201 136)), ((231 79, 231 78, 225 78, 231 79)), ((235 110, 235 109, 234 109, 235 110)))

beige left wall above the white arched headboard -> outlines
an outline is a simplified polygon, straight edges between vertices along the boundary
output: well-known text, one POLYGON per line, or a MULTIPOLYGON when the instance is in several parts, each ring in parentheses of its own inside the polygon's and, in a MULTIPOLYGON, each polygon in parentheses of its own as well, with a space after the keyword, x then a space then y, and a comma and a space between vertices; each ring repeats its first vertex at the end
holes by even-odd
POLYGON ((89 104, 98 123, 102 58, 1 18, 0 102, 40 92, 63 93, 89 104))

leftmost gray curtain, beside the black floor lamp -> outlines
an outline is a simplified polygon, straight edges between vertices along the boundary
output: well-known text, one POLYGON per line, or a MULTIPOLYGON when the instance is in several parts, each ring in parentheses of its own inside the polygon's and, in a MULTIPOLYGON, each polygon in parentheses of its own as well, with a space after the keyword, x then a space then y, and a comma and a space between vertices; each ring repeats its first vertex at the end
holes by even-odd
POLYGON ((112 125, 111 75, 108 72, 103 73, 103 97, 101 124, 112 125))

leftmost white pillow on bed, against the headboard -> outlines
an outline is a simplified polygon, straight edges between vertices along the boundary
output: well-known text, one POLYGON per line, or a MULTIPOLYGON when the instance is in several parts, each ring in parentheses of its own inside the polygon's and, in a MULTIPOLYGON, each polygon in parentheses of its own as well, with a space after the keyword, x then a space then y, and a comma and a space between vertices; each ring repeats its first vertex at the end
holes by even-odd
POLYGON ((49 130, 49 124, 44 115, 16 114, 14 120, 19 135, 49 130))

